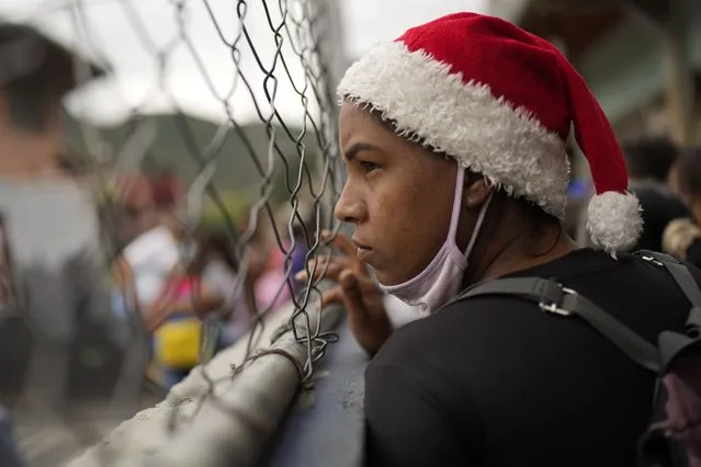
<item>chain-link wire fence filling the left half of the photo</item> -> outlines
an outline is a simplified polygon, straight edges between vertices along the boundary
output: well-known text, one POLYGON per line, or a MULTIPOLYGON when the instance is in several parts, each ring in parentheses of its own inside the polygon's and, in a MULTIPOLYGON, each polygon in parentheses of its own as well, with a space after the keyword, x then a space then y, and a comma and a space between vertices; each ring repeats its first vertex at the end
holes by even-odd
POLYGON ((30 465, 251 465, 309 380, 340 316, 294 278, 337 228, 336 9, 3 2, 0 101, 26 112, 0 124, 56 145, 27 166, 0 136, 0 332, 24 355, 2 402, 30 465))

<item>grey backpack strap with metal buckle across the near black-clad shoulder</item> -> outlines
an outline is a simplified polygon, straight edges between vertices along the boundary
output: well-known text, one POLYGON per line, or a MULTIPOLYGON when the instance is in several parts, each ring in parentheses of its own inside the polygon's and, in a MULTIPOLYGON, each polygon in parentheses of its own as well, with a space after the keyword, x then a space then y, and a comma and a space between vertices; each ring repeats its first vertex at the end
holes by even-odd
POLYGON ((592 301, 552 280, 540 277, 497 278, 466 289, 457 297, 456 301, 495 295, 508 295, 533 301, 545 312, 578 316, 638 365, 652 372, 658 372, 660 368, 659 352, 653 344, 592 301))

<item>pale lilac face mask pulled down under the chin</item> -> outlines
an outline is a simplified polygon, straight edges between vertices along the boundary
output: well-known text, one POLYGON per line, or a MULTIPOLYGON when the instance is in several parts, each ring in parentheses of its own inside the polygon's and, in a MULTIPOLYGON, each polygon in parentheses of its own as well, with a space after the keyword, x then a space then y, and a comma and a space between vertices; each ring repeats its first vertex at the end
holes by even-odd
POLYGON ((380 288, 384 293, 394 295, 407 305, 418 307, 422 317, 438 310, 460 293, 463 275, 467 269, 467 258, 475 247, 487 208, 491 202, 493 193, 489 194, 489 197, 479 209, 475 228, 463 253, 455 243, 455 235, 460 221, 464 180, 465 170, 459 167, 448 238, 429 265, 417 276, 403 284, 380 284, 380 288))

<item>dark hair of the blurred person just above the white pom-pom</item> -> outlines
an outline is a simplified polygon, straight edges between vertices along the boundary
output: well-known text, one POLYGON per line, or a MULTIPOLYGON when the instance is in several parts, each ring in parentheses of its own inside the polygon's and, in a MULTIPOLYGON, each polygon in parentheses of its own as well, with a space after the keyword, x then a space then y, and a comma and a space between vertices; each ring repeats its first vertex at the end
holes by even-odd
POLYGON ((642 138, 623 145, 623 157, 631 178, 667 180, 679 148, 666 137, 642 138))

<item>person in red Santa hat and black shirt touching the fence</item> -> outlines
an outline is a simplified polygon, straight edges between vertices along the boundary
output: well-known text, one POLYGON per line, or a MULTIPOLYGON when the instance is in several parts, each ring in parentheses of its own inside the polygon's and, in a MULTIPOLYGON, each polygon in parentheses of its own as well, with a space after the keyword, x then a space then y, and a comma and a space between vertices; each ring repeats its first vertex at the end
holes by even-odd
POLYGON ((352 242, 328 274, 366 371, 377 466, 634 466, 654 375, 576 318, 495 296, 504 276, 555 277, 655 341, 689 304, 666 272, 622 253, 641 231, 620 148, 581 77, 498 19, 449 15, 372 49, 346 73, 337 217, 352 242), (578 250, 559 223, 574 124, 597 195, 578 250), (368 265, 380 283, 376 287, 368 265), (380 288, 380 291, 378 291, 380 288), (381 292, 421 316, 393 330, 381 292))

